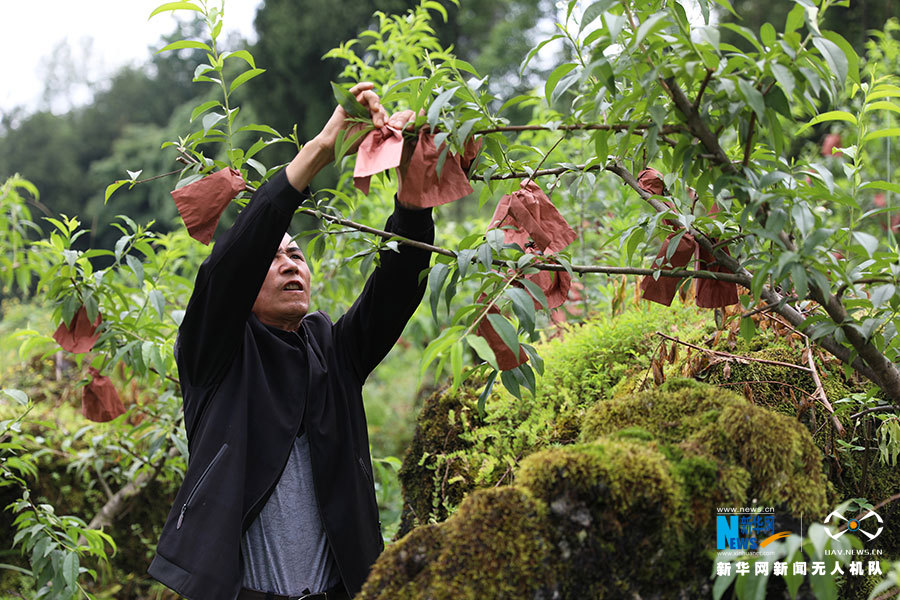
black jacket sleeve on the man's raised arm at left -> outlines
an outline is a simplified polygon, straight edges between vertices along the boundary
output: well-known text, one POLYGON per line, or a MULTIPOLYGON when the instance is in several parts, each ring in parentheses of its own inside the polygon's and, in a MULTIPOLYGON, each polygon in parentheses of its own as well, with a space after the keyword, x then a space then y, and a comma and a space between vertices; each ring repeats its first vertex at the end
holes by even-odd
POLYGON ((253 194, 203 261, 176 347, 181 375, 192 385, 210 383, 224 374, 281 238, 307 196, 280 171, 253 194))

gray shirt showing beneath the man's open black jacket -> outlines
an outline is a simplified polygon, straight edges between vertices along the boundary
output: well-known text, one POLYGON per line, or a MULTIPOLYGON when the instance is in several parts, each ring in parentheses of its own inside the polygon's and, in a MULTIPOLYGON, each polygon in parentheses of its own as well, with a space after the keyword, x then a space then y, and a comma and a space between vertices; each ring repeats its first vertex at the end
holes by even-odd
POLYGON ((299 595, 337 585, 340 575, 322 527, 313 489, 309 440, 294 440, 275 490, 241 539, 243 586, 299 595))

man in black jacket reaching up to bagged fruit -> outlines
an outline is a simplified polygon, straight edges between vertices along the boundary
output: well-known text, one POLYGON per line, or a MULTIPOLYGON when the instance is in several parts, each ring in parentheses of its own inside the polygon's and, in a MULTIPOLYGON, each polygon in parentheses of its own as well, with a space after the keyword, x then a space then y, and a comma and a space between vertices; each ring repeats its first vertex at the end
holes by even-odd
MULTIPOLYGON (((351 91, 380 127, 371 90, 351 91)), ((337 322, 307 314, 309 269, 285 231, 342 130, 338 107, 254 194, 200 267, 179 329, 190 461, 149 572, 191 600, 350 597, 383 549, 362 385, 421 301, 429 254, 385 251, 337 322)), ((434 239, 430 209, 397 203, 385 228, 434 239)))

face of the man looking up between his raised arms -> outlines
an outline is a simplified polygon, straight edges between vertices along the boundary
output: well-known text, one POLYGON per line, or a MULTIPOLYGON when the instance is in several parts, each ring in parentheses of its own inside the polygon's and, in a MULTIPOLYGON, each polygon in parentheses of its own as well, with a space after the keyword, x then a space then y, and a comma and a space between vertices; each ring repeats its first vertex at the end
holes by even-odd
POLYGON ((266 273, 253 314, 266 325, 294 331, 309 310, 309 267, 291 236, 284 234, 266 273))

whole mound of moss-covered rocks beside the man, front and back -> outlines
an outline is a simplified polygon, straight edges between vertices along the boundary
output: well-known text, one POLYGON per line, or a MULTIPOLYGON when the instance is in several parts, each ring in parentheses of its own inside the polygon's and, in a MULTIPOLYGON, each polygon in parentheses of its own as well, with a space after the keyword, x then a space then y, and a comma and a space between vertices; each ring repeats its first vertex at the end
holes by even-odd
MULTIPOLYGON (((900 489, 898 470, 874 453, 861 467, 865 453, 842 449, 821 408, 812 418, 804 371, 732 360, 730 372, 699 374, 709 383, 672 379, 690 369, 670 352, 670 379, 655 387, 653 332, 676 322, 686 341, 708 333, 683 310, 601 319, 542 345, 537 393, 495 391, 483 419, 478 388, 430 398, 401 473, 409 534, 360 597, 709 597, 718 507, 772 506, 777 530, 799 532, 861 490, 877 502, 900 489)), ((801 349, 763 337, 727 350, 803 364, 801 349)), ((832 400, 855 389, 827 366, 821 375, 832 400)), ((850 431, 848 409, 836 414, 850 431)), ((896 510, 880 511, 894 521, 879 544, 888 558, 900 555, 896 510)), ((861 599, 865 588, 841 593, 861 599)), ((767 593, 787 597, 784 581, 767 593)), ((810 593, 804 584, 800 597, 810 593)))

